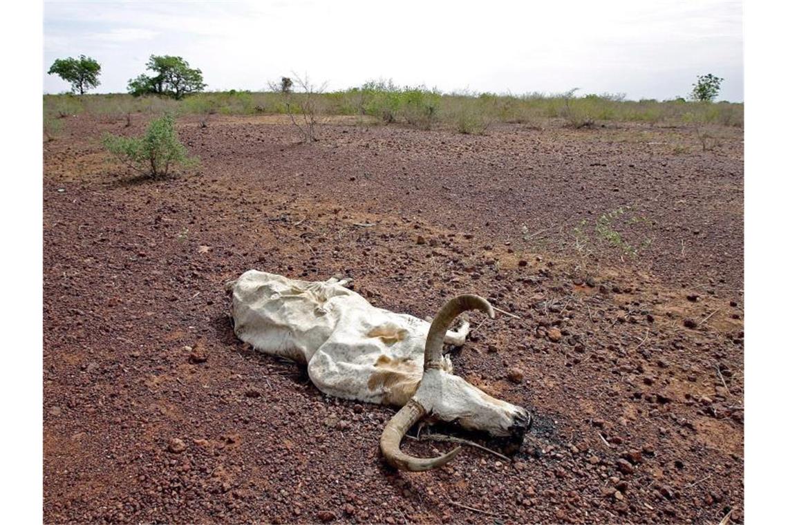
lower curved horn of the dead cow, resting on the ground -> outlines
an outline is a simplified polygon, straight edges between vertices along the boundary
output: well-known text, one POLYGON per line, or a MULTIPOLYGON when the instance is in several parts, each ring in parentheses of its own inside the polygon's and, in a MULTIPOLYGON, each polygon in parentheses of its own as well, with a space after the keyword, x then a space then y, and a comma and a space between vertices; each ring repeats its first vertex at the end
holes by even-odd
POLYGON ((443 456, 422 459, 409 456, 400 450, 400 442, 405 433, 423 416, 424 407, 411 397, 400 409, 400 412, 388 420, 381 435, 381 452, 392 467, 414 472, 428 471, 431 468, 442 467, 459 453, 460 447, 458 446, 443 456))

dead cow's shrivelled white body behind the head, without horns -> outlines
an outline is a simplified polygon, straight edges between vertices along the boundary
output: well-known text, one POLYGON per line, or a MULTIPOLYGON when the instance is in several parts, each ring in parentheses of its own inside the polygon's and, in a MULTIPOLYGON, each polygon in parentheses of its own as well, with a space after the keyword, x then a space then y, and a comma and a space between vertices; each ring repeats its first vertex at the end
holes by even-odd
MULTIPOLYGON (((404 405, 422 378, 429 323, 379 309, 329 280, 250 271, 233 287, 236 335, 263 353, 308 364, 326 394, 404 405)), ((467 324, 447 342, 463 344, 467 324)), ((447 370, 451 361, 444 360, 447 370)))

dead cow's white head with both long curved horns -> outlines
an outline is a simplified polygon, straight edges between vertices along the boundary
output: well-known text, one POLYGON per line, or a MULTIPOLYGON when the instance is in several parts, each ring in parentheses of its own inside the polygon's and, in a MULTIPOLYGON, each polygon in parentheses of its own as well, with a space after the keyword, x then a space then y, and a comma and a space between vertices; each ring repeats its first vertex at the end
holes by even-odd
POLYGON ((424 347, 422 381, 413 397, 388 421, 381 435, 381 452, 393 467, 426 471, 447 464, 459 453, 460 447, 457 447, 443 456, 422 459, 400 450, 400 442, 408 429, 426 416, 458 421, 466 428, 496 436, 512 436, 522 442, 522 435, 530 425, 528 412, 485 394, 444 367, 442 348, 446 331, 456 316, 473 309, 495 316, 492 305, 485 299, 478 295, 460 295, 448 301, 430 325, 424 347))

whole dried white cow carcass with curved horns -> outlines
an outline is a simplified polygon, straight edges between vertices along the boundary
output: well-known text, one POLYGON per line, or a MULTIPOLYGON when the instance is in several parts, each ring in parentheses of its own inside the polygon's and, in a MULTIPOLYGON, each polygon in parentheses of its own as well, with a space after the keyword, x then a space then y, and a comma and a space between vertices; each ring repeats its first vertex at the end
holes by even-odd
POLYGON ((530 415, 453 375, 452 361, 443 354, 444 342, 465 342, 467 321, 449 330, 460 313, 476 309, 494 317, 488 301, 460 295, 429 323, 376 308, 345 284, 245 272, 228 283, 235 333, 258 351, 306 364, 325 394, 402 407, 381 436, 381 452, 396 468, 424 471, 459 453, 459 447, 432 459, 403 453, 403 435, 422 418, 522 440, 530 415))

